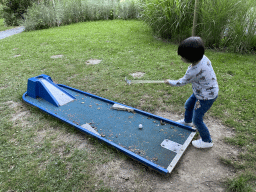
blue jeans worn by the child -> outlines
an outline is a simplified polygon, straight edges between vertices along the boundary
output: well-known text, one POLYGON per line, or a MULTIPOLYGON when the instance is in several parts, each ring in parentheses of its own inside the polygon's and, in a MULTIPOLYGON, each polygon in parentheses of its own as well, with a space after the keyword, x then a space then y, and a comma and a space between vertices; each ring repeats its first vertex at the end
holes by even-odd
POLYGON ((184 121, 186 123, 194 123, 204 142, 212 142, 212 139, 208 128, 203 122, 203 116, 216 99, 217 97, 211 100, 199 100, 192 94, 185 103, 184 121))

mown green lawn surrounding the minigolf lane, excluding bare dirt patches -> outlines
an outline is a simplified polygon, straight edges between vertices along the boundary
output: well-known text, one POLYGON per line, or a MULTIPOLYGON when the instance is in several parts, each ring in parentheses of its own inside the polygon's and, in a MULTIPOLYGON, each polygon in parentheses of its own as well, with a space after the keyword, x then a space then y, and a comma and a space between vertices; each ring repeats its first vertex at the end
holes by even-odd
MULTIPOLYGON (((76 149, 76 143, 58 139, 77 134, 74 128, 22 102, 27 80, 47 74, 65 84, 148 112, 183 111, 191 85, 128 86, 125 76, 145 72, 142 79, 178 79, 187 64, 177 56, 177 45, 152 36, 140 21, 98 21, 23 32, 0 44, 0 188, 3 191, 110 191, 95 178, 97 164, 122 157, 115 150, 84 136, 94 153, 76 149), (51 59, 52 55, 64 55, 51 59), (15 55, 21 55, 14 57, 15 55), (88 59, 99 65, 86 65, 88 59), (17 102, 12 109, 8 101, 17 102), (29 111, 23 121, 13 115, 29 111), (51 132, 51 130, 54 130, 51 132), (46 133, 44 139, 40 135, 46 133), (67 182, 68 181, 68 182, 67 182), (95 187, 98 184, 98 187, 95 187)), ((253 189, 256 181, 255 55, 206 51, 217 74, 220 94, 207 115, 234 128, 227 139, 242 149, 236 161, 223 160, 242 175, 229 181, 230 190, 253 189), (241 185, 246 182, 251 185, 241 185)), ((241 191, 241 190, 240 190, 241 191)))

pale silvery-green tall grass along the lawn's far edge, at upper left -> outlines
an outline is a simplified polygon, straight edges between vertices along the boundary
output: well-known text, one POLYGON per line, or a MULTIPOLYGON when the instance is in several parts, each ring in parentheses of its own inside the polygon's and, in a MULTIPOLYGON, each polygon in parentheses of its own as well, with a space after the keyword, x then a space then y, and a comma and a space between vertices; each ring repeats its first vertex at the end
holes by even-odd
POLYGON ((24 26, 30 31, 84 21, 133 19, 138 13, 132 0, 42 1, 28 9, 24 26))

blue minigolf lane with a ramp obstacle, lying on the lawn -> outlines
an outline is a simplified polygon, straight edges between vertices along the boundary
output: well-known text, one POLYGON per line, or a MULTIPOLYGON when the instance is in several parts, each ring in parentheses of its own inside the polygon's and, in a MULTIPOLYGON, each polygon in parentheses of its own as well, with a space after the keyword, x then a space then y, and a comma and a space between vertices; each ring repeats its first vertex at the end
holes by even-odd
POLYGON ((28 79, 23 100, 131 158, 169 174, 195 129, 39 75, 28 79))

